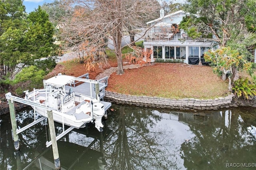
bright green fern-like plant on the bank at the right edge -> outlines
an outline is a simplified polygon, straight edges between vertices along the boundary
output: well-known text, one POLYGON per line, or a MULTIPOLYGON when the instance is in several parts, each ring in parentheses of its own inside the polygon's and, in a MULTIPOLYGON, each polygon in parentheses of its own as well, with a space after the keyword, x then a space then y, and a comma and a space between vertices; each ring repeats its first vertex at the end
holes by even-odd
POLYGON ((250 83, 248 78, 240 78, 234 82, 234 87, 232 88, 233 93, 239 98, 243 97, 244 99, 251 99, 256 95, 256 85, 250 83))

